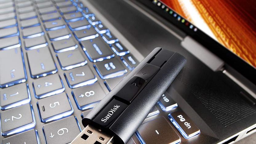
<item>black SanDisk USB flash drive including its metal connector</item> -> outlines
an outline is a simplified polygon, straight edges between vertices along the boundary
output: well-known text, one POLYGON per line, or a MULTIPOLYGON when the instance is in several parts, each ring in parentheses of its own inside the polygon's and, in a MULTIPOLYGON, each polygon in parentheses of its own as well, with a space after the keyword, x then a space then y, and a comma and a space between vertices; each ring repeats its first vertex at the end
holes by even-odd
POLYGON ((82 119, 86 130, 72 143, 127 143, 185 63, 155 48, 82 119))

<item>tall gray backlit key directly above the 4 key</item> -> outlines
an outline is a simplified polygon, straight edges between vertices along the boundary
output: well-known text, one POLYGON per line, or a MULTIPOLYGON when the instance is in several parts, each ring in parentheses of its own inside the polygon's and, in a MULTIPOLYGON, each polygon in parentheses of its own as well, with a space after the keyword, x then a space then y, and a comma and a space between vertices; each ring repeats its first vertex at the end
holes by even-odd
POLYGON ((58 71, 48 47, 27 51, 27 57, 32 78, 54 74, 58 71))

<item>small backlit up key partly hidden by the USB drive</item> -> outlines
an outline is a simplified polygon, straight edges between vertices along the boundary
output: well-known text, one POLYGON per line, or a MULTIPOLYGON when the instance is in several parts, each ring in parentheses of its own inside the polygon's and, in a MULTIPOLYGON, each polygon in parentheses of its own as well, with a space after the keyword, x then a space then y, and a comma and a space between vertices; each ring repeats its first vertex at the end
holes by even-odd
POLYGON ((163 111, 169 111, 178 106, 177 103, 167 93, 164 93, 162 95, 158 102, 158 105, 163 111))

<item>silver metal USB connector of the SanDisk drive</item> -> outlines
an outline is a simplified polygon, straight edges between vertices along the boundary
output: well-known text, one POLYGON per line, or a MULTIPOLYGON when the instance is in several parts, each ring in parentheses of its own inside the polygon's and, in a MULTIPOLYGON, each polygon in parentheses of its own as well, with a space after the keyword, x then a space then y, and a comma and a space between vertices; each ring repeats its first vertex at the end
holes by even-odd
POLYGON ((95 126, 88 125, 82 132, 71 142, 71 144, 112 144, 113 135, 97 129, 95 126))

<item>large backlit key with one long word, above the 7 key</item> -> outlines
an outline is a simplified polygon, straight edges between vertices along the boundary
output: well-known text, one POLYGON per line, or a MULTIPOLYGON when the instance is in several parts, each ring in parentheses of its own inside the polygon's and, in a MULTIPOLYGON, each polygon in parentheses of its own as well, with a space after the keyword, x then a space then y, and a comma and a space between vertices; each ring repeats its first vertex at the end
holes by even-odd
POLYGON ((112 50, 110 50, 110 46, 106 44, 101 37, 82 41, 81 45, 91 62, 99 62, 114 57, 112 50))

